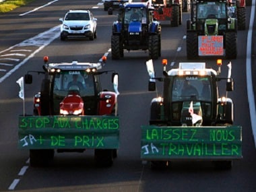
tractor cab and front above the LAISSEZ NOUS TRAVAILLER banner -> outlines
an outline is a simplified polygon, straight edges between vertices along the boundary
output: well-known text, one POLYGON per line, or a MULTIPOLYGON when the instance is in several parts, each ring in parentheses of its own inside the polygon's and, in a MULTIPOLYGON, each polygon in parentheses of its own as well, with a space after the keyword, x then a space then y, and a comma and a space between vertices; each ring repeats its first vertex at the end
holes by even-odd
POLYGON ((219 99, 218 82, 228 79, 226 91, 232 91, 232 79, 218 77, 219 73, 205 68, 205 63, 179 63, 179 68, 169 71, 166 71, 166 62, 163 65, 164 77, 160 78, 154 77, 154 70, 148 67, 149 90, 154 90, 155 79, 164 82, 162 97, 152 100, 152 104, 158 102, 162 107, 160 119, 177 126, 212 126, 216 123, 219 106, 226 105, 226 100, 219 99))

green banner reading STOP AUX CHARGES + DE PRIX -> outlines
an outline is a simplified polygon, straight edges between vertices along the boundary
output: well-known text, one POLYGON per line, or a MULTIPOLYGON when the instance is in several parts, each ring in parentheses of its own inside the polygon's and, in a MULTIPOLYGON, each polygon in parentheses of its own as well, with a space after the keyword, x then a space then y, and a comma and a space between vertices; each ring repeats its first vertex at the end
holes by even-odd
POLYGON ((119 117, 19 117, 18 146, 22 149, 117 149, 119 117))

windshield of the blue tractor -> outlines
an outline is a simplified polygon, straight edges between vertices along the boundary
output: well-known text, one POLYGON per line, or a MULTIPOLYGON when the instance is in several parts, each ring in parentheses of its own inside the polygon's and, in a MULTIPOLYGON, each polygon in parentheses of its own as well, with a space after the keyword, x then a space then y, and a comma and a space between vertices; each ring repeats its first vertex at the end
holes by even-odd
POLYGON ((144 7, 126 7, 125 8, 125 24, 130 22, 147 23, 147 12, 144 7))

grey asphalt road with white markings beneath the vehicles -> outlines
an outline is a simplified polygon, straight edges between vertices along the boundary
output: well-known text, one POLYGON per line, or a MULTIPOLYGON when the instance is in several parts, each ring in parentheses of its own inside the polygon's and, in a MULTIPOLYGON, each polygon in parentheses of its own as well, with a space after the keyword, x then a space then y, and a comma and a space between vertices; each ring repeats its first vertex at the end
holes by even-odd
MULTIPOLYGON (((0 66, 0 191, 255 191, 256 153, 245 73, 246 30, 238 32, 238 57, 232 61, 235 90, 229 94, 234 102, 234 124, 243 127, 243 159, 234 161, 232 170, 216 170, 210 162, 173 162, 166 170, 151 170, 149 164, 143 165, 139 159, 140 126, 148 124, 150 101, 156 96, 156 93, 147 90, 148 74, 144 62, 148 53, 125 51, 124 59, 110 59, 111 26, 117 16, 107 15, 102 6, 97 5, 100 1, 55 1, 19 16, 48 2, 34 1, 0 15, 0 59, 5 58, 0 60, 0 63, 5 61, 5 65, 0 66), (63 17, 65 11, 78 8, 91 9, 98 18, 96 40, 63 42, 55 38, 57 29, 46 35, 41 34, 58 26, 59 18, 63 17), (38 34, 41 35, 36 36, 38 34), (121 93, 121 141, 119 156, 113 167, 94 167, 93 152, 90 150, 83 154, 57 154, 53 165, 46 168, 30 167, 28 151, 17 148, 18 115, 23 113, 23 103, 18 98, 20 88, 16 80, 28 70, 42 69, 44 55, 48 55, 54 63, 71 62, 73 59, 97 62, 104 54, 108 56, 105 68, 119 72, 121 93)), ((250 11, 247 9, 247 18, 250 11)), ((168 67, 177 67, 177 63, 186 61, 183 37, 187 18, 189 13, 183 13, 183 24, 178 28, 170 28, 162 22, 162 57, 154 61, 156 74, 162 74, 162 59, 168 59, 168 67)), ((247 26, 248 23, 249 19, 247 26)), ((255 33, 253 35, 255 37, 255 33)), ((202 61, 216 69, 215 59, 202 61)), ((227 63, 227 60, 223 61, 223 75, 227 74, 227 63)), ((38 83, 25 87, 27 114, 32 114, 32 98, 40 88, 40 76, 35 77, 34 82, 38 83)), ((106 88, 110 88, 110 79, 106 78, 103 82, 106 88)), ((161 85, 157 86, 160 89, 161 85)))

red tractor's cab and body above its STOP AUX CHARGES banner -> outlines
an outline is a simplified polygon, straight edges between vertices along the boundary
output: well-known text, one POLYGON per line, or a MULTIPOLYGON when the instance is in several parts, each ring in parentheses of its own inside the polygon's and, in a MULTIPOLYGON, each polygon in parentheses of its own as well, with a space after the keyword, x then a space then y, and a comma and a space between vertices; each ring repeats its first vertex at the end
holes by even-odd
MULTIPOLYGON (((35 115, 104 115, 115 111, 118 82, 114 79, 118 79, 117 73, 112 75, 115 92, 102 91, 100 75, 109 72, 98 71, 102 69, 102 63, 47 61, 44 61, 44 72, 41 72, 44 73, 41 90, 34 96, 35 115)), ((32 75, 25 75, 25 83, 32 83, 32 75)))

